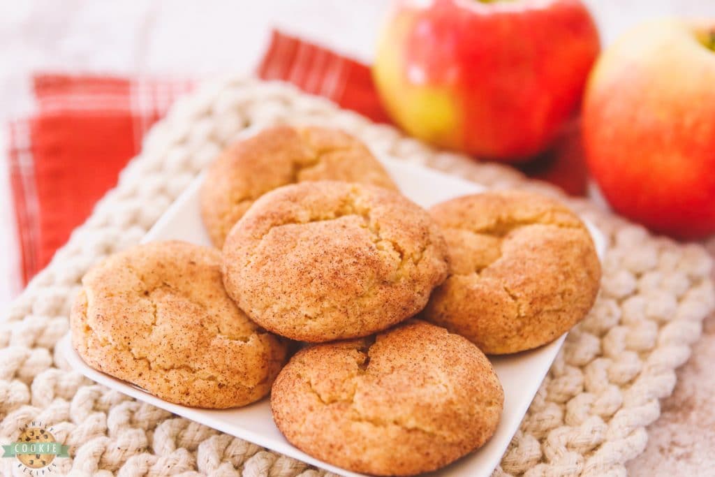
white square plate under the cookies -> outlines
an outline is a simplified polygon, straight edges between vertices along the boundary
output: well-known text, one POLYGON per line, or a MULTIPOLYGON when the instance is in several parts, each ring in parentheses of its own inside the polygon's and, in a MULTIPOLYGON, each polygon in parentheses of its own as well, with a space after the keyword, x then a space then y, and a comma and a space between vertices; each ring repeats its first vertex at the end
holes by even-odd
MULTIPOLYGON (((242 136, 246 136, 243 134, 242 136)), ((485 187, 473 182, 462 180, 448 174, 443 174, 415 164, 380 157, 400 190, 411 200, 423 207, 430 207, 443 200, 465 194, 483 192, 485 187)), ((157 221, 152 230, 144 237, 144 242, 152 240, 185 240, 199 245, 211 245, 209 237, 201 220, 199 212, 199 187, 203 174, 197 177, 192 185, 169 207, 167 212, 157 221)), ((586 222, 596 243, 598 255, 603 258, 606 240, 596 227, 586 222)), ((504 410, 499 426, 490 441, 478 451, 437 471, 433 476, 470 476, 488 477, 498 465, 501 456, 519 428, 531 400, 541 385, 541 381, 551 367, 556 353, 561 348, 566 335, 558 340, 536 350, 509 356, 490 357, 496 373, 504 388, 504 410)), ((122 380, 112 378, 89 368, 71 346, 69 335, 59 343, 61 354, 65 356, 72 368, 86 375, 97 383, 108 388, 119 390, 133 398, 145 401, 158 408, 197 421, 219 431, 257 443, 273 451, 300 459, 314 466, 342 476, 359 476, 360 474, 345 471, 318 461, 288 443, 273 423, 269 400, 267 398, 244 408, 228 410, 207 410, 187 408, 182 405, 167 403, 154 397, 144 390, 134 387, 122 380)))

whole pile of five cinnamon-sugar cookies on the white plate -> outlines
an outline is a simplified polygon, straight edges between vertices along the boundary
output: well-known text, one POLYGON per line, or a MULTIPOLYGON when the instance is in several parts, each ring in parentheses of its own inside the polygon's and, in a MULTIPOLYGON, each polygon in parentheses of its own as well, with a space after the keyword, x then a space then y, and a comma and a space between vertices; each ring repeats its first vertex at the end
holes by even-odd
POLYGON ((270 393, 288 441, 351 471, 414 475, 483 446, 504 400, 485 353, 551 342, 598 291, 591 235, 560 203, 485 192, 428 212, 337 130, 232 145, 201 201, 217 248, 151 242, 94 267, 74 348, 172 403, 270 393))

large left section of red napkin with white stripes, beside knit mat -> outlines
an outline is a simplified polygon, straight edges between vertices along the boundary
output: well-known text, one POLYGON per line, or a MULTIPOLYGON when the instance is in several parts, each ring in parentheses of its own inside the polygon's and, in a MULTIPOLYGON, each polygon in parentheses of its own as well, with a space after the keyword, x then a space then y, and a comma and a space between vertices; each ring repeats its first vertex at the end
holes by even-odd
POLYGON ((36 116, 10 124, 10 183, 22 277, 41 270, 117 183, 186 81, 34 78, 36 116))

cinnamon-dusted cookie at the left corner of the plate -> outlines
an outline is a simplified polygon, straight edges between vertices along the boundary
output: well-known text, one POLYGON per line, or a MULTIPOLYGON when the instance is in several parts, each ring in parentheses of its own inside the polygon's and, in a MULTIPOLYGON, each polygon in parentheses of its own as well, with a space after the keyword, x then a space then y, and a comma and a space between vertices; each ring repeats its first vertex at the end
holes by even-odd
POLYGON ((87 272, 71 333, 92 368, 201 408, 259 400, 286 358, 226 295, 220 252, 186 242, 139 245, 87 272))

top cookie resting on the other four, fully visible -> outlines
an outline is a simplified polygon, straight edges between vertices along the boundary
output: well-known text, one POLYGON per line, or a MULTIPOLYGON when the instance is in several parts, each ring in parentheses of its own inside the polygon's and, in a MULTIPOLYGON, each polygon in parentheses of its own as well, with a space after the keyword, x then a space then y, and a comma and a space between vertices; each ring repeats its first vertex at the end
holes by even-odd
POLYGON ((447 247, 398 192, 302 182, 267 193, 223 247, 229 295, 294 340, 358 338, 418 313, 448 273, 447 247))

